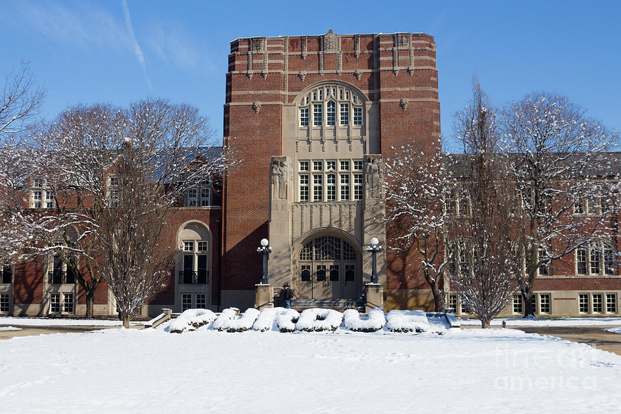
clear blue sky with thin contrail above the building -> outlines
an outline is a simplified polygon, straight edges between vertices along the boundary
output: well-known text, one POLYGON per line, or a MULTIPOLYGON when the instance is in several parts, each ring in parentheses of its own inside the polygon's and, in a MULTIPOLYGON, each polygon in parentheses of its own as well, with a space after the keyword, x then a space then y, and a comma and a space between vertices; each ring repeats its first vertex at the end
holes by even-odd
POLYGON ((221 134, 238 37, 425 32, 435 37, 442 135, 477 75, 498 105, 546 90, 621 130, 619 1, 0 0, 0 72, 32 59, 48 119, 79 103, 163 97, 221 134))

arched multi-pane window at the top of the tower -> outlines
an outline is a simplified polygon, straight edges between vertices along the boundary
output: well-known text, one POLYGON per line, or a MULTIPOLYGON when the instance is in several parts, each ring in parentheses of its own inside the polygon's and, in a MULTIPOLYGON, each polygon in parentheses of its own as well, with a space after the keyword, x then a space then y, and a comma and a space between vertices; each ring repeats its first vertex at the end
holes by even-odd
POLYGON ((325 124, 326 127, 347 127, 350 119, 353 119, 354 126, 362 126, 362 102, 357 92, 344 86, 318 86, 299 103, 299 126, 308 128, 325 124))

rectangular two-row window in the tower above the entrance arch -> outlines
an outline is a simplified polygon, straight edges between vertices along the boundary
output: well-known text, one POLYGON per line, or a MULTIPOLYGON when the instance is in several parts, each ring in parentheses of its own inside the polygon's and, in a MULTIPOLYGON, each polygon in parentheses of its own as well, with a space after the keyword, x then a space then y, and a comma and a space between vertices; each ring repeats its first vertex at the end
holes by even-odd
POLYGON ((350 201, 363 198, 364 177, 360 159, 309 159, 299 161, 298 166, 298 199, 301 202, 350 201))

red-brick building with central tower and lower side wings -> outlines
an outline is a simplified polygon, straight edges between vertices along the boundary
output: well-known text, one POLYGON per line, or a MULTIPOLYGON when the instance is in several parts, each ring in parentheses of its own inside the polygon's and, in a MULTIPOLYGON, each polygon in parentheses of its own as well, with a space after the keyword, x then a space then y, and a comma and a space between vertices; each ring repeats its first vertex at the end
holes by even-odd
MULTIPOLYGON (((383 159, 411 141, 430 154, 440 149, 437 76, 435 42, 427 34, 329 30, 232 41, 224 146, 243 163, 224 176, 221 199, 206 188, 188 193, 170 229, 179 262, 144 313, 253 306, 263 238, 273 249, 273 286, 288 282, 296 299, 311 304, 359 297, 371 275, 366 246, 373 237, 390 245, 393 237, 384 224, 383 159)), ((610 161, 619 169, 620 157, 610 161)), ((45 198, 44 189, 33 188, 30 207, 45 208, 45 198)), ((616 235, 611 241, 618 250, 616 235)), ((537 313, 618 314, 618 263, 609 271, 602 249, 585 246, 555 264, 554 275, 540 275, 537 313)), ((413 260, 385 248, 378 256, 386 309, 433 308, 422 275, 404 270, 413 260)), ((0 315, 83 314, 83 292, 75 281, 54 280, 55 266, 53 257, 5 266, 0 315)), ((505 314, 520 314, 520 300, 505 314)), ((446 302, 466 313, 453 293, 446 302)), ((115 315, 105 285, 95 312, 115 315)))

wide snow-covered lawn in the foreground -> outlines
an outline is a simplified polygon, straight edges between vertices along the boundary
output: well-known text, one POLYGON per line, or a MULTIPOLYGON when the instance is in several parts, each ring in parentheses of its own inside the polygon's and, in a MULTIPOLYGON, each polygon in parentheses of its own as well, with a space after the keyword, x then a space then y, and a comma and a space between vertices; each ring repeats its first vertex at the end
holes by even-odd
POLYGON ((620 383, 620 356, 515 329, 0 341, 2 413, 611 413, 620 383))

